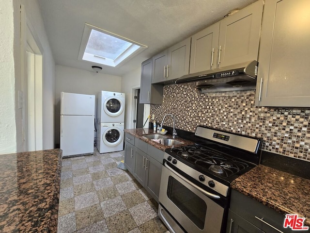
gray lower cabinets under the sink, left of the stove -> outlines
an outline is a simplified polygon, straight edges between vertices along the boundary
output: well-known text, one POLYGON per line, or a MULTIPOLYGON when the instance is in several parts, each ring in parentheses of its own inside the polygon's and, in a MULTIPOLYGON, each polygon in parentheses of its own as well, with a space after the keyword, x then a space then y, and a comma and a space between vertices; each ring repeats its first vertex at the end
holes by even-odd
POLYGON ((124 164, 128 171, 158 202, 164 151, 125 133, 124 164), (131 143, 134 143, 131 144, 131 143))

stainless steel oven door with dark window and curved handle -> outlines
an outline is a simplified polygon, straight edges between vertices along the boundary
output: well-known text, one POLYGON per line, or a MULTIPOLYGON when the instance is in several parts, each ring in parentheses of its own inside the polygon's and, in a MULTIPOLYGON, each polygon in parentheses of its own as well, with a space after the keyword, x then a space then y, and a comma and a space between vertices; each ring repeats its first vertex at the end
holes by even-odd
POLYGON ((188 233, 220 233, 224 208, 214 201, 220 198, 190 182, 164 162, 159 203, 168 214, 160 208, 159 216, 171 232, 180 232, 179 228, 172 227, 175 219, 188 233))

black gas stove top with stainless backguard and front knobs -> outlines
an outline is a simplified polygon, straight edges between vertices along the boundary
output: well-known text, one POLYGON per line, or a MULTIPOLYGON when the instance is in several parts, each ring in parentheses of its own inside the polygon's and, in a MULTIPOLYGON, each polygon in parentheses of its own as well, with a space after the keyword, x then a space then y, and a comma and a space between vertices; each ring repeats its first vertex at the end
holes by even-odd
POLYGON ((207 179, 230 186, 234 179, 260 162, 259 138, 204 126, 197 126, 195 138, 195 144, 166 149, 164 159, 202 184, 207 179))

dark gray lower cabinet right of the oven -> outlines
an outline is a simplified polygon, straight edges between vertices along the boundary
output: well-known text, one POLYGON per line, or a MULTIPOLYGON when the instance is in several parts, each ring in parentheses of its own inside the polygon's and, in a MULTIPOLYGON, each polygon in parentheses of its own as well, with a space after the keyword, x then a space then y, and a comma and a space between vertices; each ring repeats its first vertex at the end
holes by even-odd
POLYGON ((232 190, 226 233, 292 233, 283 227, 284 219, 263 203, 232 190))

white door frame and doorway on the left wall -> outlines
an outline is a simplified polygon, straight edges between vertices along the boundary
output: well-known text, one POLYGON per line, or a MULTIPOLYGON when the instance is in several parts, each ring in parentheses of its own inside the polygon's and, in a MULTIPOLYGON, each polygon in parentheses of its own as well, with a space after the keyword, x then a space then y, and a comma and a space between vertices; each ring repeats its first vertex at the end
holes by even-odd
POLYGON ((23 4, 20 5, 20 16, 22 91, 19 95, 22 99, 23 151, 43 150, 44 50, 31 22, 26 16, 23 4), (31 55, 29 55, 30 53, 31 55), (31 61, 30 66, 29 61, 31 61), (31 74, 29 73, 30 70, 31 74))

